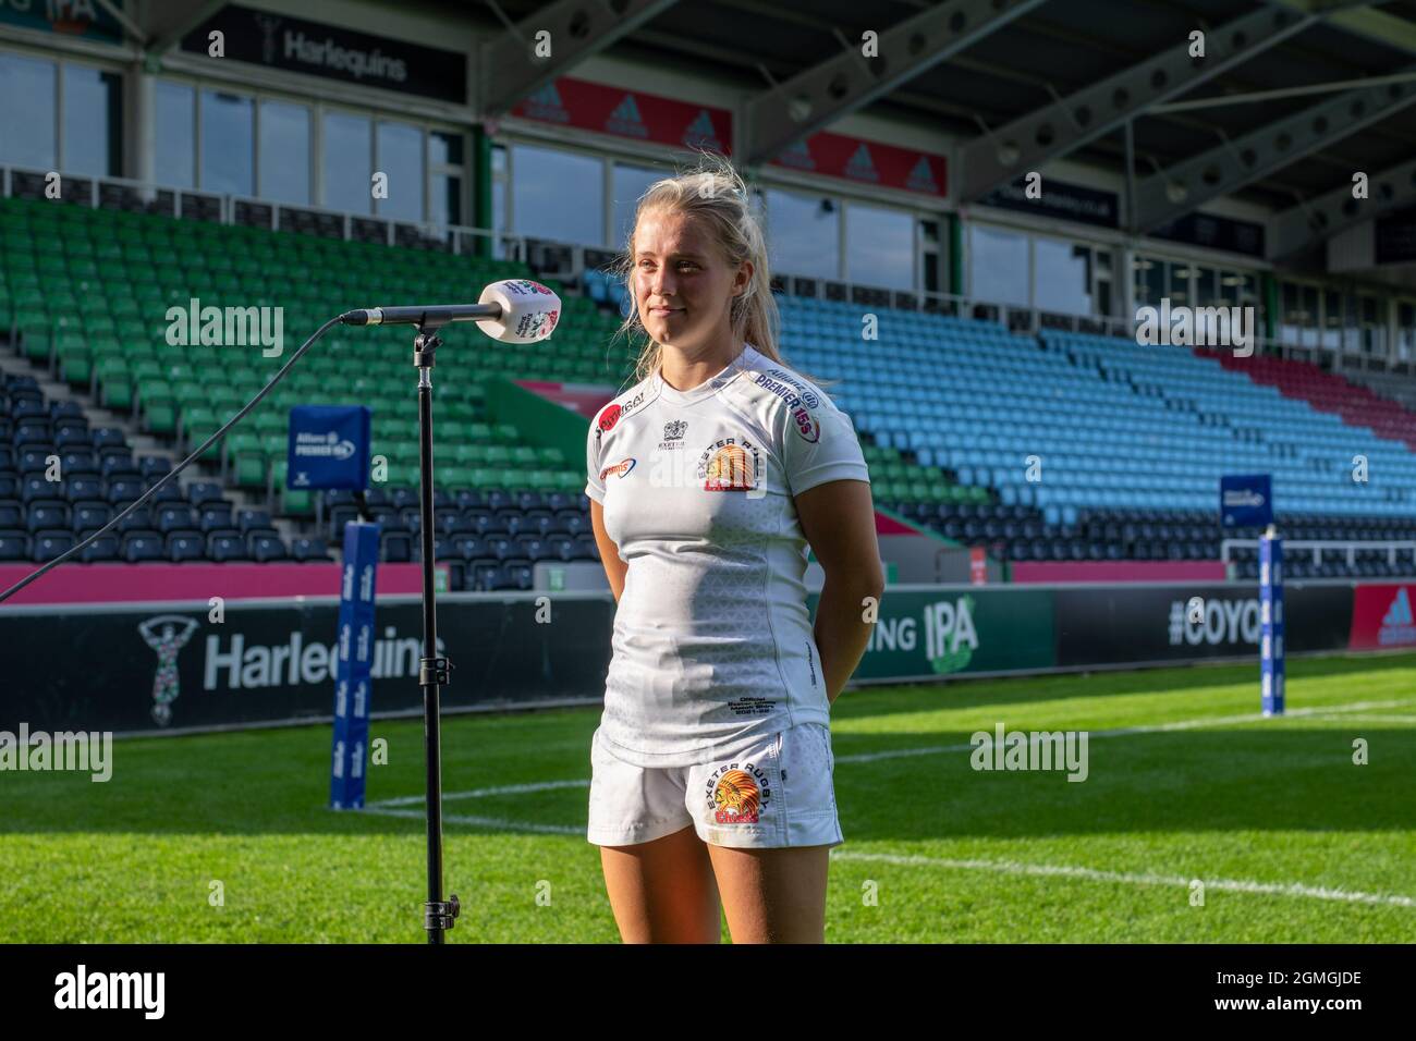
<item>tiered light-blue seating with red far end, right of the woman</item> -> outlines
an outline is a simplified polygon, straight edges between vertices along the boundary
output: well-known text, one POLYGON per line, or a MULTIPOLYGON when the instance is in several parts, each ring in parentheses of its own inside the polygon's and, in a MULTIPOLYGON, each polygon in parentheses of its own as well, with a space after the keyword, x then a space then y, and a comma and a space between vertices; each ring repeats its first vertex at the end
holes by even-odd
MULTIPOLYGON (((879 341, 862 351, 860 305, 787 299, 783 316, 787 354, 840 374, 833 395, 882 446, 868 459, 872 476, 879 452, 892 453, 877 503, 997 557, 1216 559, 1222 538, 1257 534, 1221 533, 1215 517, 1219 476, 1246 469, 1274 474, 1290 538, 1416 538, 1416 455, 1392 439, 1416 416, 1317 370, 1317 385, 1341 398, 1310 404, 1266 382, 1313 368, 1301 363, 1221 364, 1182 347, 1054 330, 1031 337, 889 309, 878 312, 879 341), (1352 482, 1357 453, 1398 480, 1382 490, 1352 482)), ((1240 576, 1256 572, 1252 554, 1235 559, 1240 576)), ((1351 564, 1332 554, 1291 559, 1294 576, 1412 571, 1409 550, 1359 550, 1351 564)))

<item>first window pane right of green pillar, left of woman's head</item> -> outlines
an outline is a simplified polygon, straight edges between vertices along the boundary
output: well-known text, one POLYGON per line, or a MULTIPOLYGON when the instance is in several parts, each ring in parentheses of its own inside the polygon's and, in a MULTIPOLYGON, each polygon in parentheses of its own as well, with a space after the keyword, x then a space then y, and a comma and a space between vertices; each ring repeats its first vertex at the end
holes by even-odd
POLYGON ((535 144, 511 154, 511 229, 517 235, 605 245, 605 164, 535 144))

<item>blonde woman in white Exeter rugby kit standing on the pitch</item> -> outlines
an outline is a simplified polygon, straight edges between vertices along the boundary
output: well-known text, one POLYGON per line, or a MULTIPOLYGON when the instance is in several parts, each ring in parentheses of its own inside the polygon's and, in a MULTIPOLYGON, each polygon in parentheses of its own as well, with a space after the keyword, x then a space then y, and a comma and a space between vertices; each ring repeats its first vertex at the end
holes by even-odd
POLYGON ((830 705, 884 589, 865 460, 777 353, 763 232, 726 160, 644 193, 624 263, 647 346, 586 442, 617 602, 588 838, 624 942, 716 943, 725 914, 736 943, 820 943, 843 841, 830 705))

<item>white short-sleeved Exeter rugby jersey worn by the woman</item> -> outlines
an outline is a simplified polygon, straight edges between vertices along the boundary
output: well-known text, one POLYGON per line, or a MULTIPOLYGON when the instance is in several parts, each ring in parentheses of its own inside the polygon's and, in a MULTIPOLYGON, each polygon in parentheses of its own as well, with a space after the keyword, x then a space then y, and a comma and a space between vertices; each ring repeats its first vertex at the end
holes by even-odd
POLYGON ((600 738, 688 766, 828 722, 793 496, 869 480, 850 416, 750 344, 691 391, 658 374, 595 416, 585 494, 629 562, 600 738))

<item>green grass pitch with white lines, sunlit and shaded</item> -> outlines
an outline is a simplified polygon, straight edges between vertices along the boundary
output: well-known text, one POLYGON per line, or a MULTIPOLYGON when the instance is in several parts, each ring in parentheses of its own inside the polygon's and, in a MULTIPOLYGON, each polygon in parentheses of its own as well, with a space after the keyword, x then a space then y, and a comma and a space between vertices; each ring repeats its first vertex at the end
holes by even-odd
MULTIPOLYGON (((1416 942, 1416 654, 1290 661, 1281 719, 1257 673, 847 691, 827 940, 1416 942), (1087 779, 974 770, 998 722, 1087 731, 1087 779)), ((449 942, 617 942, 598 721, 445 721, 449 942)), ((0 939, 423 942, 422 724, 372 736, 362 813, 326 809, 327 725, 116 741, 108 783, 0 773, 0 939)))

